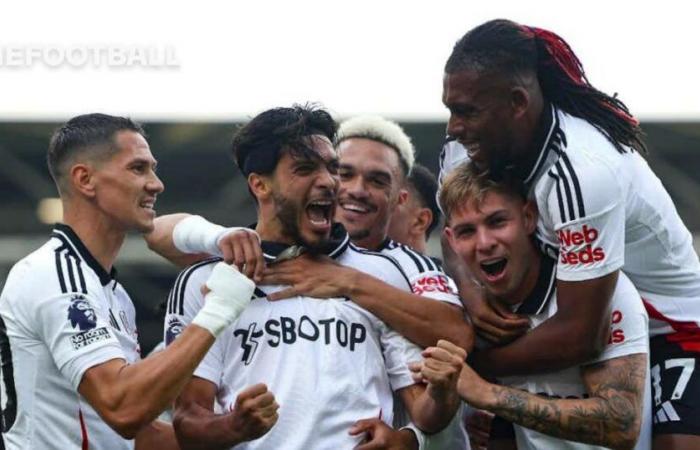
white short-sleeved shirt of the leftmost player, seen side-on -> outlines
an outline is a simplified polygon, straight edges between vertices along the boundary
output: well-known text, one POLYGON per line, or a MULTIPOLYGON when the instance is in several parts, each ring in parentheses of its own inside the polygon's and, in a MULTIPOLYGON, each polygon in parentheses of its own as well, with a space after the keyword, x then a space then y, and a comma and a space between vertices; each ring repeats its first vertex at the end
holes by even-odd
POLYGON ((139 359, 134 305, 73 230, 10 271, 0 297, 7 449, 132 449, 77 391, 90 367, 139 359))

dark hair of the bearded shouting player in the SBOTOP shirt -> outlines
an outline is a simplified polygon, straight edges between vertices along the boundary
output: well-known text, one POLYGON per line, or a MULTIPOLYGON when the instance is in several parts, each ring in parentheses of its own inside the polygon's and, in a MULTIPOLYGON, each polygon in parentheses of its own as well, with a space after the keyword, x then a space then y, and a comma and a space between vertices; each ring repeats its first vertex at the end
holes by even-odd
POLYGON ((282 151, 313 157, 308 137, 325 136, 334 142, 338 124, 314 104, 293 105, 264 111, 241 127, 233 137, 231 150, 243 175, 268 175, 275 170, 282 151))

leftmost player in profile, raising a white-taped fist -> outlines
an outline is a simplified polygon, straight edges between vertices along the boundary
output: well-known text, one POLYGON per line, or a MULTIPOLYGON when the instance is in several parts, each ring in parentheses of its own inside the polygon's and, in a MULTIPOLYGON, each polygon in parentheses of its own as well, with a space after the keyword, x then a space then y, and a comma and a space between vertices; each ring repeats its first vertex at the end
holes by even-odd
MULTIPOLYGON (((10 271, 0 296, 2 424, 7 449, 177 448, 154 419, 175 399, 254 285, 229 266, 176 345, 140 360, 134 305, 114 260, 129 231, 153 227, 163 183, 140 125, 74 117, 48 165, 63 223, 10 271), (223 285, 223 287, 222 287, 223 285)), ((245 420, 248 425, 250 420, 245 420)))

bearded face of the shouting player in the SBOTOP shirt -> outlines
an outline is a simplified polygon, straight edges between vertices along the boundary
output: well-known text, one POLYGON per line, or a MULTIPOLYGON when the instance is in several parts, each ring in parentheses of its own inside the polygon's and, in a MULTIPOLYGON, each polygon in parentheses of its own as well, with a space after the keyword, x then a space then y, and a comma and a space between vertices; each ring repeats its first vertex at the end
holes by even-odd
POLYGON ((338 190, 338 159, 325 136, 309 138, 308 152, 285 151, 271 177, 280 236, 313 250, 330 237, 338 190))

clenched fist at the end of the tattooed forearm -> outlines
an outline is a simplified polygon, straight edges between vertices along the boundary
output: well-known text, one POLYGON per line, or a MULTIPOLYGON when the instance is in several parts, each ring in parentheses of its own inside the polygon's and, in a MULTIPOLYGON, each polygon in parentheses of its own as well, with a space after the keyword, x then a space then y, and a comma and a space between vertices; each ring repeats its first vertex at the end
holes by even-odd
POLYGON ((455 395, 462 366, 467 358, 466 350, 441 339, 436 347, 423 350, 422 355, 422 362, 409 364, 413 379, 427 383, 428 394, 433 398, 444 399, 455 395))

